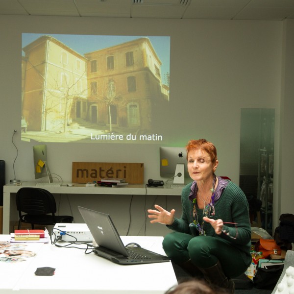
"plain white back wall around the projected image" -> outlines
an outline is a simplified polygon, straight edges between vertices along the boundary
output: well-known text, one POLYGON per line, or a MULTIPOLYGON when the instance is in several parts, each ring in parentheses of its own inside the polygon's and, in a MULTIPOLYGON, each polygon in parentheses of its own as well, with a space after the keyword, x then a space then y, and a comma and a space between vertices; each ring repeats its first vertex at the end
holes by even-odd
MULTIPOLYGON (((220 161, 217 173, 231 177, 237 184, 240 109, 275 108, 277 118, 280 115, 283 22, 0 16, 0 27, 0 159, 6 162, 7 182, 14 177, 12 164, 16 150, 11 143, 14 129, 18 130, 15 143, 19 148, 16 177, 33 180, 33 143, 20 140, 23 32, 171 36, 170 99, 174 136, 170 145, 185 146, 188 140, 198 138, 214 142, 220 161)), ((289 54, 293 56, 293 53, 289 54)), ((294 72, 293 66, 287 74, 291 71, 294 72)), ((290 90, 285 96, 287 103, 293 93, 290 90)), ((287 111, 287 106, 284 108, 287 111)), ((276 144, 279 144, 279 120, 276 129, 276 144)), ((293 143, 293 134, 290 137, 293 143)), ((160 179, 160 144, 48 143, 47 146, 51 172, 61 175, 64 181, 71 181, 73 161, 143 162, 145 182, 148 178, 160 179)), ((282 163, 286 158, 288 155, 281 158, 282 163)), ((283 166, 275 172, 283 172, 283 166)), ((167 201, 168 207, 169 201, 178 206, 180 213, 179 202, 167 201)), ((136 211, 144 211, 143 199, 139 202, 136 211)), ((122 208, 117 207, 116 199, 113 199, 106 209, 117 215, 122 208)), ((282 211, 289 212, 285 206, 282 211)), ((155 229, 150 230, 149 235, 157 233, 155 229)), ((135 231, 132 233, 136 234, 135 231)))

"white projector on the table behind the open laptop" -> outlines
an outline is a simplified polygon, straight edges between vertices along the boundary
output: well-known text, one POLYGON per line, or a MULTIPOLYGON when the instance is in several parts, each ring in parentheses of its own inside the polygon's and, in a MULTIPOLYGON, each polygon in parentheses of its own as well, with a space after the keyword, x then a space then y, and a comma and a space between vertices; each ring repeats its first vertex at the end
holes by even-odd
POLYGON ((93 236, 85 223, 56 223, 53 232, 65 242, 92 242, 93 236), (66 234, 65 234, 66 233, 66 234))

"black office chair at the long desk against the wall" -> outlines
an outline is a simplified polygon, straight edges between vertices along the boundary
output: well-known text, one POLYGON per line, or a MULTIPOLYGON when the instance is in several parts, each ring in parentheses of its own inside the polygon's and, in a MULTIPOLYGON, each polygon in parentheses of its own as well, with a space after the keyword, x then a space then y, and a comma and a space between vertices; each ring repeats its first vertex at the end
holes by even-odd
POLYGON ((57 222, 73 222, 71 216, 55 216, 56 202, 53 195, 41 188, 21 188, 16 194, 16 207, 19 212, 18 229, 22 222, 54 225, 57 222), (24 214, 22 214, 24 213, 24 214))

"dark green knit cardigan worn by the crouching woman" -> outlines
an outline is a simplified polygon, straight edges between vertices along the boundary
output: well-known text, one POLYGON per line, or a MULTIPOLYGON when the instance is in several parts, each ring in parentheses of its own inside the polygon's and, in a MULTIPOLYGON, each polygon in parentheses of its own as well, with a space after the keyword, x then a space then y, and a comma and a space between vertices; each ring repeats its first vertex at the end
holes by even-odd
MULTIPOLYGON (((193 203, 189 199, 192 183, 185 186, 182 190, 182 216, 180 219, 174 220, 172 225, 168 227, 176 232, 182 232, 192 235, 197 235, 195 227, 190 227, 189 224, 194 221, 193 218, 193 203)), ((197 209, 197 216, 199 223, 202 222, 203 210, 197 209)), ((223 190, 221 197, 215 202, 215 216, 213 219, 221 219, 223 222, 237 223, 237 229, 234 224, 225 224, 223 230, 229 233, 228 235, 221 233, 217 235, 210 223, 204 222, 203 229, 207 236, 221 238, 223 242, 237 247, 248 266, 251 263, 251 228, 249 220, 249 206, 243 191, 233 182, 228 181, 227 186, 223 190)))

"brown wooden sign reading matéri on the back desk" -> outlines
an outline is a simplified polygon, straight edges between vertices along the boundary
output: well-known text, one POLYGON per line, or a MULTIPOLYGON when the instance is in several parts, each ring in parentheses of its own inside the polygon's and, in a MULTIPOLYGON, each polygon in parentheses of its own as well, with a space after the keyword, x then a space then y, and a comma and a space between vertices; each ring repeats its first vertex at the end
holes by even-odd
POLYGON ((143 184, 143 163, 73 162, 72 182, 87 183, 101 178, 125 178, 129 184, 143 184))

